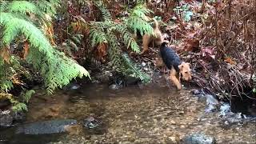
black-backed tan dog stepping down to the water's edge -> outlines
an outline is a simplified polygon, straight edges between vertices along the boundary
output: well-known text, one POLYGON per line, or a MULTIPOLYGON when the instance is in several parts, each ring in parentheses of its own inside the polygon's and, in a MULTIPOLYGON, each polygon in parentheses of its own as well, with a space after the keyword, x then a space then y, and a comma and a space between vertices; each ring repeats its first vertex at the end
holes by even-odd
POLYGON ((185 81, 192 79, 190 63, 182 62, 178 54, 176 54, 171 47, 166 45, 167 42, 162 42, 160 46, 162 62, 170 70, 170 80, 174 82, 178 90, 182 90, 181 78, 185 81))

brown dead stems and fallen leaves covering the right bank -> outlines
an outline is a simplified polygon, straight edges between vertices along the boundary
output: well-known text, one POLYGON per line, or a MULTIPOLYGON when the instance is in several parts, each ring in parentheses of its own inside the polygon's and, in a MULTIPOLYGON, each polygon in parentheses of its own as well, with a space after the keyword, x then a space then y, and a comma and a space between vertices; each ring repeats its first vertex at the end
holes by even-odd
POLYGON ((154 6, 163 11, 157 12, 162 14, 163 21, 173 20, 166 26, 166 33, 184 60, 192 62, 194 82, 220 97, 251 97, 252 76, 256 71, 256 1, 201 3, 190 0, 173 4, 163 2, 154 6), (193 13, 189 22, 177 13, 177 6, 187 4, 193 13), (170 10, 172 8, 174 10, 170 10))

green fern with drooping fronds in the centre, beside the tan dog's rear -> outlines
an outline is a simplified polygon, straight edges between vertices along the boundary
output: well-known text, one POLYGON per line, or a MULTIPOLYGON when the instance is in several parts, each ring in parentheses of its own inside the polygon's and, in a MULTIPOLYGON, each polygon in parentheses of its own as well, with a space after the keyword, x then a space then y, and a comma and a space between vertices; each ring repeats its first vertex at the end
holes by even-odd
POLYGON ((109 46, 110 63, 114 69, 123 74, 133 75, 141 78, 142 82, 148 82, 149 77, 143 74, 137 66, 122 54, 120 42, 125 44, 136 53, 140 52, 138 43, 134 40, 132 33, 139 31, 141 34, 152 34, 153 28, 147 22, 149 18, 146 16, 151 11, 144 5, 135 6, 130 10, 128 18, 122 18, 119 22, 115 22, 111 18, 109 10, 102 4, 102 1, 94 2, 98 9, 102 12, 103 22, 91 22, 90 24, 90 39, 91 45, 97 46, 104 42, 109 46), (130 32, 131 31, 131 32, 130 32))

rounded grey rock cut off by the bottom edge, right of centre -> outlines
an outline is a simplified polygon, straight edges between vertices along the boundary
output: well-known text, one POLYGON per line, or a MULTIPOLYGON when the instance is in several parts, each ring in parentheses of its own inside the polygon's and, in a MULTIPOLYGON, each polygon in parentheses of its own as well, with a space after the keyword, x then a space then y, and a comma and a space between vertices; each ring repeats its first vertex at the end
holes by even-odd
POLYGON ((183 144, 215 144, 216 139, 205 134, 189 134, 182 139, 183 144))

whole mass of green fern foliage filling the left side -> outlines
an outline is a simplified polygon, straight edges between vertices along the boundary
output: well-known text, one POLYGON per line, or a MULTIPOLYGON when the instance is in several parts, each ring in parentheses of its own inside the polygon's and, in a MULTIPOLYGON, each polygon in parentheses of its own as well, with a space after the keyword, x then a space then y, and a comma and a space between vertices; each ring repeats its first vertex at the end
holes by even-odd
MULTIPOLYGON (((82 66, 51 46, 44 31, 38 29, 38 27, 50 26, 50 15, 56 13, 55 7, 59 6, 58 0, 0 1, 0 6, 2 30, 0 50, 10 47, 10 43, 17 43, 17 39, 29 42, 30 49, 26 62, 40 72, 48 93, 53 93, 57 87, 66 86, 73 78, 83 76, 90 78, 89 73, 82 66)), ((8 54, 11 53, 8 52, 8 54)), ((21 60, 18 55, 4 57, 0 57, 0 98, 8 98, 13 103, 13 110, 26 110, 26 105, 22 102, 28 102, 33 91, 27 91, 21 99, 15 99, 8 94, 8 91, 13 88, 13 83, 22 84, 15 76, 25 74, 26 70, 19 63, 21 60), (9 60, 10 62, 6 62, 9 60)))

